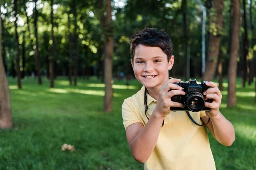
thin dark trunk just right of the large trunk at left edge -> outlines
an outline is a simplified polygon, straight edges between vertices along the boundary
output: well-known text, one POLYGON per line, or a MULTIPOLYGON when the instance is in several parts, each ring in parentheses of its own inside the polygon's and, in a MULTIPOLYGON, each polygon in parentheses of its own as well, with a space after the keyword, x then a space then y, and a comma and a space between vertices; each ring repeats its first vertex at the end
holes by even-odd
POLYGON ((16 48, 17 48, 17 57, 16 57, 16 72, 17 72, 17 85, 18 88, 21 89, 21 74, 20 74, 20 43, 19 43, 19 35, 17 32, 17 14, 18 14, 18 10, 17 10, 17 0, 14 0, 14 11, 15 11, 15 39, 16 39, 16 48))

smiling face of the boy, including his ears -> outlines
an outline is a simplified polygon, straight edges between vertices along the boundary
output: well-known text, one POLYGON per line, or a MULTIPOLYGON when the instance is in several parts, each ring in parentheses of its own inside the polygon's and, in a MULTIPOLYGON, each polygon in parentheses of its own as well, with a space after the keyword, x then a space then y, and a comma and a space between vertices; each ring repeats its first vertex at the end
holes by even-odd
POLYGON ((174 56, 168 61, 159 47, 137 45, 131 65, 136 79, 146 88, 160 88, 169 79, 174 56))

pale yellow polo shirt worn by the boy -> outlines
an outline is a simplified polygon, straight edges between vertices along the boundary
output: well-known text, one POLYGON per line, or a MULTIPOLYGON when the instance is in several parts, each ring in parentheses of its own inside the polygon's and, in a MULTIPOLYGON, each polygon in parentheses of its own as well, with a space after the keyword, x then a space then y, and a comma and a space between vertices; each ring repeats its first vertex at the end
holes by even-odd
MULTIPOLYGON (((122 105, 122 118, 125 129, 133 123, 148 122, 145 116, 143 86, 137 94, 125 99, 122 105)), ((150 118, 157 101, 148 95, 147 116, 150 118)), ((199 124, 205 111, 189 112, 199 124)), ((145 162, 145 170, 216 170, 209 144, 206 127, 195 125, 185 111, 169 113, 160 130, 156 147, 145 162)))

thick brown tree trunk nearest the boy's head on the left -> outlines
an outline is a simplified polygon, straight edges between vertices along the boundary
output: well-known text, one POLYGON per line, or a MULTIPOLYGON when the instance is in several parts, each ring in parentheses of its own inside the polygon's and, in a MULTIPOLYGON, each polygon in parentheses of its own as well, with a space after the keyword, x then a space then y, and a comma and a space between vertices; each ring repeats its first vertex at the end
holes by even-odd
MULTIPOLYGON (((112 111, 112 54, 113 54, 113 21, 111 0, 106 0, 107 20, 105 21, 104 15, 101 16, 101 27, 104 34, 104 80, 105 80, 105 96, 104 96, 104 111, 112 111)), ((103 9, 102 0, 99 1, 99 7, 103 9)))

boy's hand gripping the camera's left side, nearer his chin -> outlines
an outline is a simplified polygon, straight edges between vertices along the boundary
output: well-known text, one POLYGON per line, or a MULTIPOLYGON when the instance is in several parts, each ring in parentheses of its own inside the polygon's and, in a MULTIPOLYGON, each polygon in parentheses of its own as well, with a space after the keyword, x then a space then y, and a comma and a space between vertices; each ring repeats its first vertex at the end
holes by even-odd
POLYGON ((171 112, 171 107, 184 107, 183 104, 179 102, 173 102, 171 100, 172 96, 186 94, 184 91, 182 91, 182 88, 179 85, 174 84, 175 82, 180 82, 180 79, 169 79, 160 88, 157 99, 157 106, 154 109, 154 112, 159 116, 167 116, 171 112), (172 91, 169 91, 170 89, 172 89, 172 91))

